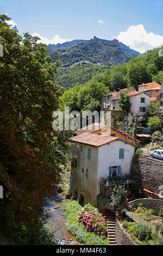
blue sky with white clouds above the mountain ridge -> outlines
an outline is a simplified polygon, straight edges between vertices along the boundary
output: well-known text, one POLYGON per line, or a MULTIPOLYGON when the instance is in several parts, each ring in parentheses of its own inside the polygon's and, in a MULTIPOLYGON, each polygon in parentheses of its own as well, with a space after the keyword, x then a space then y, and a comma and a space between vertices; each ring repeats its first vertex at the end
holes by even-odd
POLYGON ((0 10, 47 44, 94 35, 141 52, 163 44, 163 0, 0 0, 0 10))

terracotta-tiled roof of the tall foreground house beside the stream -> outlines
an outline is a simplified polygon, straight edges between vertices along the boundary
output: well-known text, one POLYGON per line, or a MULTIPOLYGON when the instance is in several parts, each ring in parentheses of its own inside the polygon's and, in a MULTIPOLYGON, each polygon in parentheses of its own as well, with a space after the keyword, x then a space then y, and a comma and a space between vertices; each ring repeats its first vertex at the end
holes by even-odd
POLYGON ((135 144, 132 144, 132 143, 126 141, 125 139, 121 139, 119 137, 98 135, 98 134, 89 133, 89 132, 80 134, 78 136, 74 136, 74 137, 69 138, 69 139, 70 139, 70 141, 79 142, 79 143, 83 143, 83 144, 88 144, 88 145, 92 145, 92 146, 95 146, 95 147, 101 147, 102 145, 108 144, 110 142, 120 140, 120 141, 123 141, 125 143, 130 144, 130 145, 133 145, 133 147, 136 147, 135 144))

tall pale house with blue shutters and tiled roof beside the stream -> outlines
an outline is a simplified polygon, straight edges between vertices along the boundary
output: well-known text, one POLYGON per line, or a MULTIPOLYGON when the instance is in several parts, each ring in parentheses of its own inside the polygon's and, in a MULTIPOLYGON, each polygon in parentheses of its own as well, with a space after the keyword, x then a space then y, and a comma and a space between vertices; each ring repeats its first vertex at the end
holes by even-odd
POLYGON ((91 132, 84 127, 76 131, 76 134, 77 136, 70 138, 74 143, 70 192, 81 204, 97 204, 101 178, 129 174, 137 147, 135 139, 110 126, 92 129, 91 132))

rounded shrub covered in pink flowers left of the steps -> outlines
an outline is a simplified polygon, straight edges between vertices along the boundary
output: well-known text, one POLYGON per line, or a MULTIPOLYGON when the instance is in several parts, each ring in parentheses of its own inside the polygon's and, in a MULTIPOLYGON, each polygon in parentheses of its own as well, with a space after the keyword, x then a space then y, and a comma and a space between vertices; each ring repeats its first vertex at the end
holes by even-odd
POLYGON ((85 225, 87 231, 105 239, 107 236, 106 221, 94 205, 86 204, 78 211, 77 221, 85 225))

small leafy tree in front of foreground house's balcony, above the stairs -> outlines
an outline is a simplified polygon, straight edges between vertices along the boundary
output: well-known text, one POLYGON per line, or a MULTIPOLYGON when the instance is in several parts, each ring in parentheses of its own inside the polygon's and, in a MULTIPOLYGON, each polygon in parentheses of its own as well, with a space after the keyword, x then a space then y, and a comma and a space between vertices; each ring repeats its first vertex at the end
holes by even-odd
POLYGON ((118 211, 121 217, 122 207, 127 203, 127 191, 124 186, 115 186, 111 196, 111 206, 116 212, 118 211))

